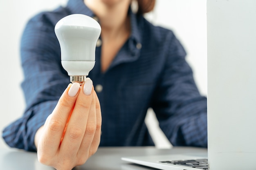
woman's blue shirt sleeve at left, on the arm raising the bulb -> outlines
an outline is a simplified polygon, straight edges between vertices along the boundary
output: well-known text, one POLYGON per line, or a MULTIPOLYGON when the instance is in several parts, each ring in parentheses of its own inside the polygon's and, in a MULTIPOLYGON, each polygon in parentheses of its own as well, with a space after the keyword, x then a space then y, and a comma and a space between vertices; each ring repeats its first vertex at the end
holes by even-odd
POLYGON ((69 84, 69 76, 61 66, 54 23, 47 13, 40 13, 27 23, 21 38, 20 55, 26 109, 20 119, 4 129, 3 138, 11 147, 36 151, 35 133, 69 84))

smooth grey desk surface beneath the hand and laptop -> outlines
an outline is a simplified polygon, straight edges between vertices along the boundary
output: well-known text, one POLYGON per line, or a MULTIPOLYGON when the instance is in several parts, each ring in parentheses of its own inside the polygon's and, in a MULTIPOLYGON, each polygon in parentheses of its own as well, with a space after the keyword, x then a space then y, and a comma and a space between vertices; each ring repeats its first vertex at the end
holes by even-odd
MULTIPOLYGON (((137 155, 162 155, 180 154, 193 152, 207 152, 204 148, 174 147, 172 149, 156 149, 154 147, 107 147, 99 148, 83 166, 73 168, 73 170, 155 170, 138 166, 126 161, 121 157, 137 155)), ((0 149, 0 169, 1 170, 54 170, 54 168, 44 166, 37 160, 36 153, 25 152, 16 149, 0 149)))

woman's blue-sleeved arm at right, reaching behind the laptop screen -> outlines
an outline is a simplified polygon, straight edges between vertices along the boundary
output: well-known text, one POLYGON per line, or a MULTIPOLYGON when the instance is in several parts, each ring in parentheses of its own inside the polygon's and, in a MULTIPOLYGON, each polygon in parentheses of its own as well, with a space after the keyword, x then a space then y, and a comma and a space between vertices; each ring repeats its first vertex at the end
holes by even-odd
POLYGON ((159 126, 175 146, 207 147, 207 99, 200 95, 186 53, 173 33, 164 44, 166 65, 153 97, 159 126))

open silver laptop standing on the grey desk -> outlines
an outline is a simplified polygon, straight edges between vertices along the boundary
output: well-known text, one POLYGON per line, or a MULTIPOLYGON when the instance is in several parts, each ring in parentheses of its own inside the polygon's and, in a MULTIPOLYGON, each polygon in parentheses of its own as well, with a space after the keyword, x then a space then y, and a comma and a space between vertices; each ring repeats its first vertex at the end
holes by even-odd
POLYGON ((207 0, 207 154, 122 160, 161 170, 256 170, 256 1, 207 0))

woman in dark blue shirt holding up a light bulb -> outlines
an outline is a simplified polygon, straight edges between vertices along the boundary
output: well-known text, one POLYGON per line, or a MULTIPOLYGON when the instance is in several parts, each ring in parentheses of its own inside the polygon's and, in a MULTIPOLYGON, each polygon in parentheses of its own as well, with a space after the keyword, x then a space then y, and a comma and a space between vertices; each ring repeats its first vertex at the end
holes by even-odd
POLYGON ((37 150, 40 162, 71 170, 98 146, 153 145, 144 124, 151 107, 173 145, 207 147, 206 98, 195 86, 186 53, 172 31, 143 18, 155 1, 137 2, 133 13, 130 0, 69 0, 67 7, 29 21, 21 43, 27 108, 3 132, 9 146, 37 150), (72 13, 101 25, 89 74, 95 91, 90 79, 66 88, 69 76, 61 66, 54 26, 72 13))

